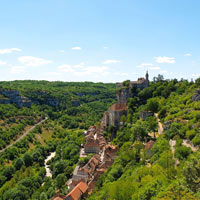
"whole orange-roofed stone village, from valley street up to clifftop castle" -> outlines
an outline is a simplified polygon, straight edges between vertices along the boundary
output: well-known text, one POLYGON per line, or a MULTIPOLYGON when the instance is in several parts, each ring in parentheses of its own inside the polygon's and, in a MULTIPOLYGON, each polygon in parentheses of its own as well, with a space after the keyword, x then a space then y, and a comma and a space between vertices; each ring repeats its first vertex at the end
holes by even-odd
MULTIPOLYGON (((88 131, 85 131, 86 144, 80 150, 80 158, 87 157, 88 154, 94 154, 89 162, 84 165, 76 165, 72 178, 67 181, 68 189, 70 192, 67 195, 56 195, 52 200, 79 200, 80 198, 91 194, 94 190, 95 183, 99 176, 102 175, 114 162, 119 150, 111 145, 103 136, 104 130, 109 126, 114 126, 119 129, 123 123, 120 121, 123 115, 128 112, 128 98, 133 94, 131 88, 136 87, 144 89, 148 87, 148 72, 145 78, 139 78, 138 81, 130 82, 128 87, 124 87, 123 83, 116 83, 117 90, 117 103, 113 104, 108 111, 103 115, 103 118, 98 127, 90 126, 88 131)), ((146 118, 148 113, 144 113, 142 118, 146 118)), ((151 141, 147 147, 152 148, 154 142, 151 141)))

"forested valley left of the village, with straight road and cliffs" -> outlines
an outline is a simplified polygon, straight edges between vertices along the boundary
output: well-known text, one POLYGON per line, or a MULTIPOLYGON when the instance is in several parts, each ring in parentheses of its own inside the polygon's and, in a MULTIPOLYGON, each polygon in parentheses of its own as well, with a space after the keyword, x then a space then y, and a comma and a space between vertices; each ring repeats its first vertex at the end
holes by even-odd
POLYGON ((0 82, 0 93, 0 199, 45 200, 58 190, 67 193, 64 183, 79 160, 82 133, 116 101, 115 85, 12 81, 0 82), (52 178, 45 170, 51 152, 56 152, 47 163, 52 178))

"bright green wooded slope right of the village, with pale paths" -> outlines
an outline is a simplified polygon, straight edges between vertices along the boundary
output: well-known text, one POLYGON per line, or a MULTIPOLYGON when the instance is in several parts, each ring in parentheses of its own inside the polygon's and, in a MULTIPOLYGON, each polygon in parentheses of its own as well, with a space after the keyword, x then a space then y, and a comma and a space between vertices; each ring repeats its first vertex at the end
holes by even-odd
POLYGON ((118 157, 89 199, 200 199, 199 88, 200 79, 158 76, 129 99, 128 116, 112 141, 118 157), (143 121, 141 111, 154 115, 143 121))

